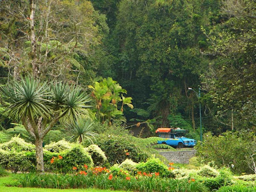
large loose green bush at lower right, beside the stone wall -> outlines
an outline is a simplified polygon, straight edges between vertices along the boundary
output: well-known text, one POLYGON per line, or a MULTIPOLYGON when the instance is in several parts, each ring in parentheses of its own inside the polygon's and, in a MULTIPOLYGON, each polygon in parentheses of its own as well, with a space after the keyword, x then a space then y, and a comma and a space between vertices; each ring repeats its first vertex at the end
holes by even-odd
POLYGON ((250 157, 255 148, 255 140, 251 132, 225 132, 221 136, 206 133, 202 145, 196 145, 196 154, 204 163, 214 161, 217 166, 232 168, 234 173, 252 173, 250 157))

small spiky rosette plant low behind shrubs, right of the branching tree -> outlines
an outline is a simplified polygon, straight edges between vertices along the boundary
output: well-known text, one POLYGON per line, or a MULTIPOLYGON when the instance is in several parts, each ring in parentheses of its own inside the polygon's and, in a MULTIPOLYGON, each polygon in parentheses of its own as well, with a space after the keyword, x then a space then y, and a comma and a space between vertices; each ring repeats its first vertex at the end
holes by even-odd
POLYGON ((93 144, 93 139, 98 135, 91 131, 93 129, 93 122, 84 118, 78 118, 77 120, 72 121, 68 124, 68 129, 72 132, 70 141, 78 141, 79 143, 83 143, 84 140, 88 140, 93 144))

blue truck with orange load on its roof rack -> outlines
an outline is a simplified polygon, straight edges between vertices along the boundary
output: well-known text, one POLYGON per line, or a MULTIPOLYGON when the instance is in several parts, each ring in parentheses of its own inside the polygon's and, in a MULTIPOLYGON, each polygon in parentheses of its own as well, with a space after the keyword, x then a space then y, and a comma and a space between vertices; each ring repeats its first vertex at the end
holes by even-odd
POLYGON ((195 147, 196 140, 181 136, 186 132, 187 130, 180 128, 158 128, 156 133, 159 138, 164 138, 166 140, 157 141, 157 143, 170 145, 174 148, 195 147))

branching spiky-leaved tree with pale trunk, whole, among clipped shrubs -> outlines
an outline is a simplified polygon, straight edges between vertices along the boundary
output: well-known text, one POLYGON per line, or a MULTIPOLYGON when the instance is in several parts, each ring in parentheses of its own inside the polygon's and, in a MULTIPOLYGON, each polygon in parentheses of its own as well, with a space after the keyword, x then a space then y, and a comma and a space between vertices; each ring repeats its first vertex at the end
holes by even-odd
POLYGON ((22 125, 35 139, 36 169, 44 172, 42 143, 44 136, 62 118, 70 120, 88 108, 88 97, 79 86, 65 83, 40 83, 31 77, 8 83, 0 88, 4 113, 22 125))

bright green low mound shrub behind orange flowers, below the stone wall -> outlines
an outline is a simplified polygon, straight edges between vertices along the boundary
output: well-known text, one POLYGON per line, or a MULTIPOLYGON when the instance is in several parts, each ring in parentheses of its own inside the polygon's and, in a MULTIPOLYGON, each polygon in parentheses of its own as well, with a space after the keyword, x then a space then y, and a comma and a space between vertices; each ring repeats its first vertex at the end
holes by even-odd
POLYGON ((156 173, 162 177, 174 177, 174 174, 168 170, 168 166, 166 166, 160 159, 157 158, 150 158, 147 162, 138 163, 136 169, 139 172, 146 172, 146 173, 156 173))

